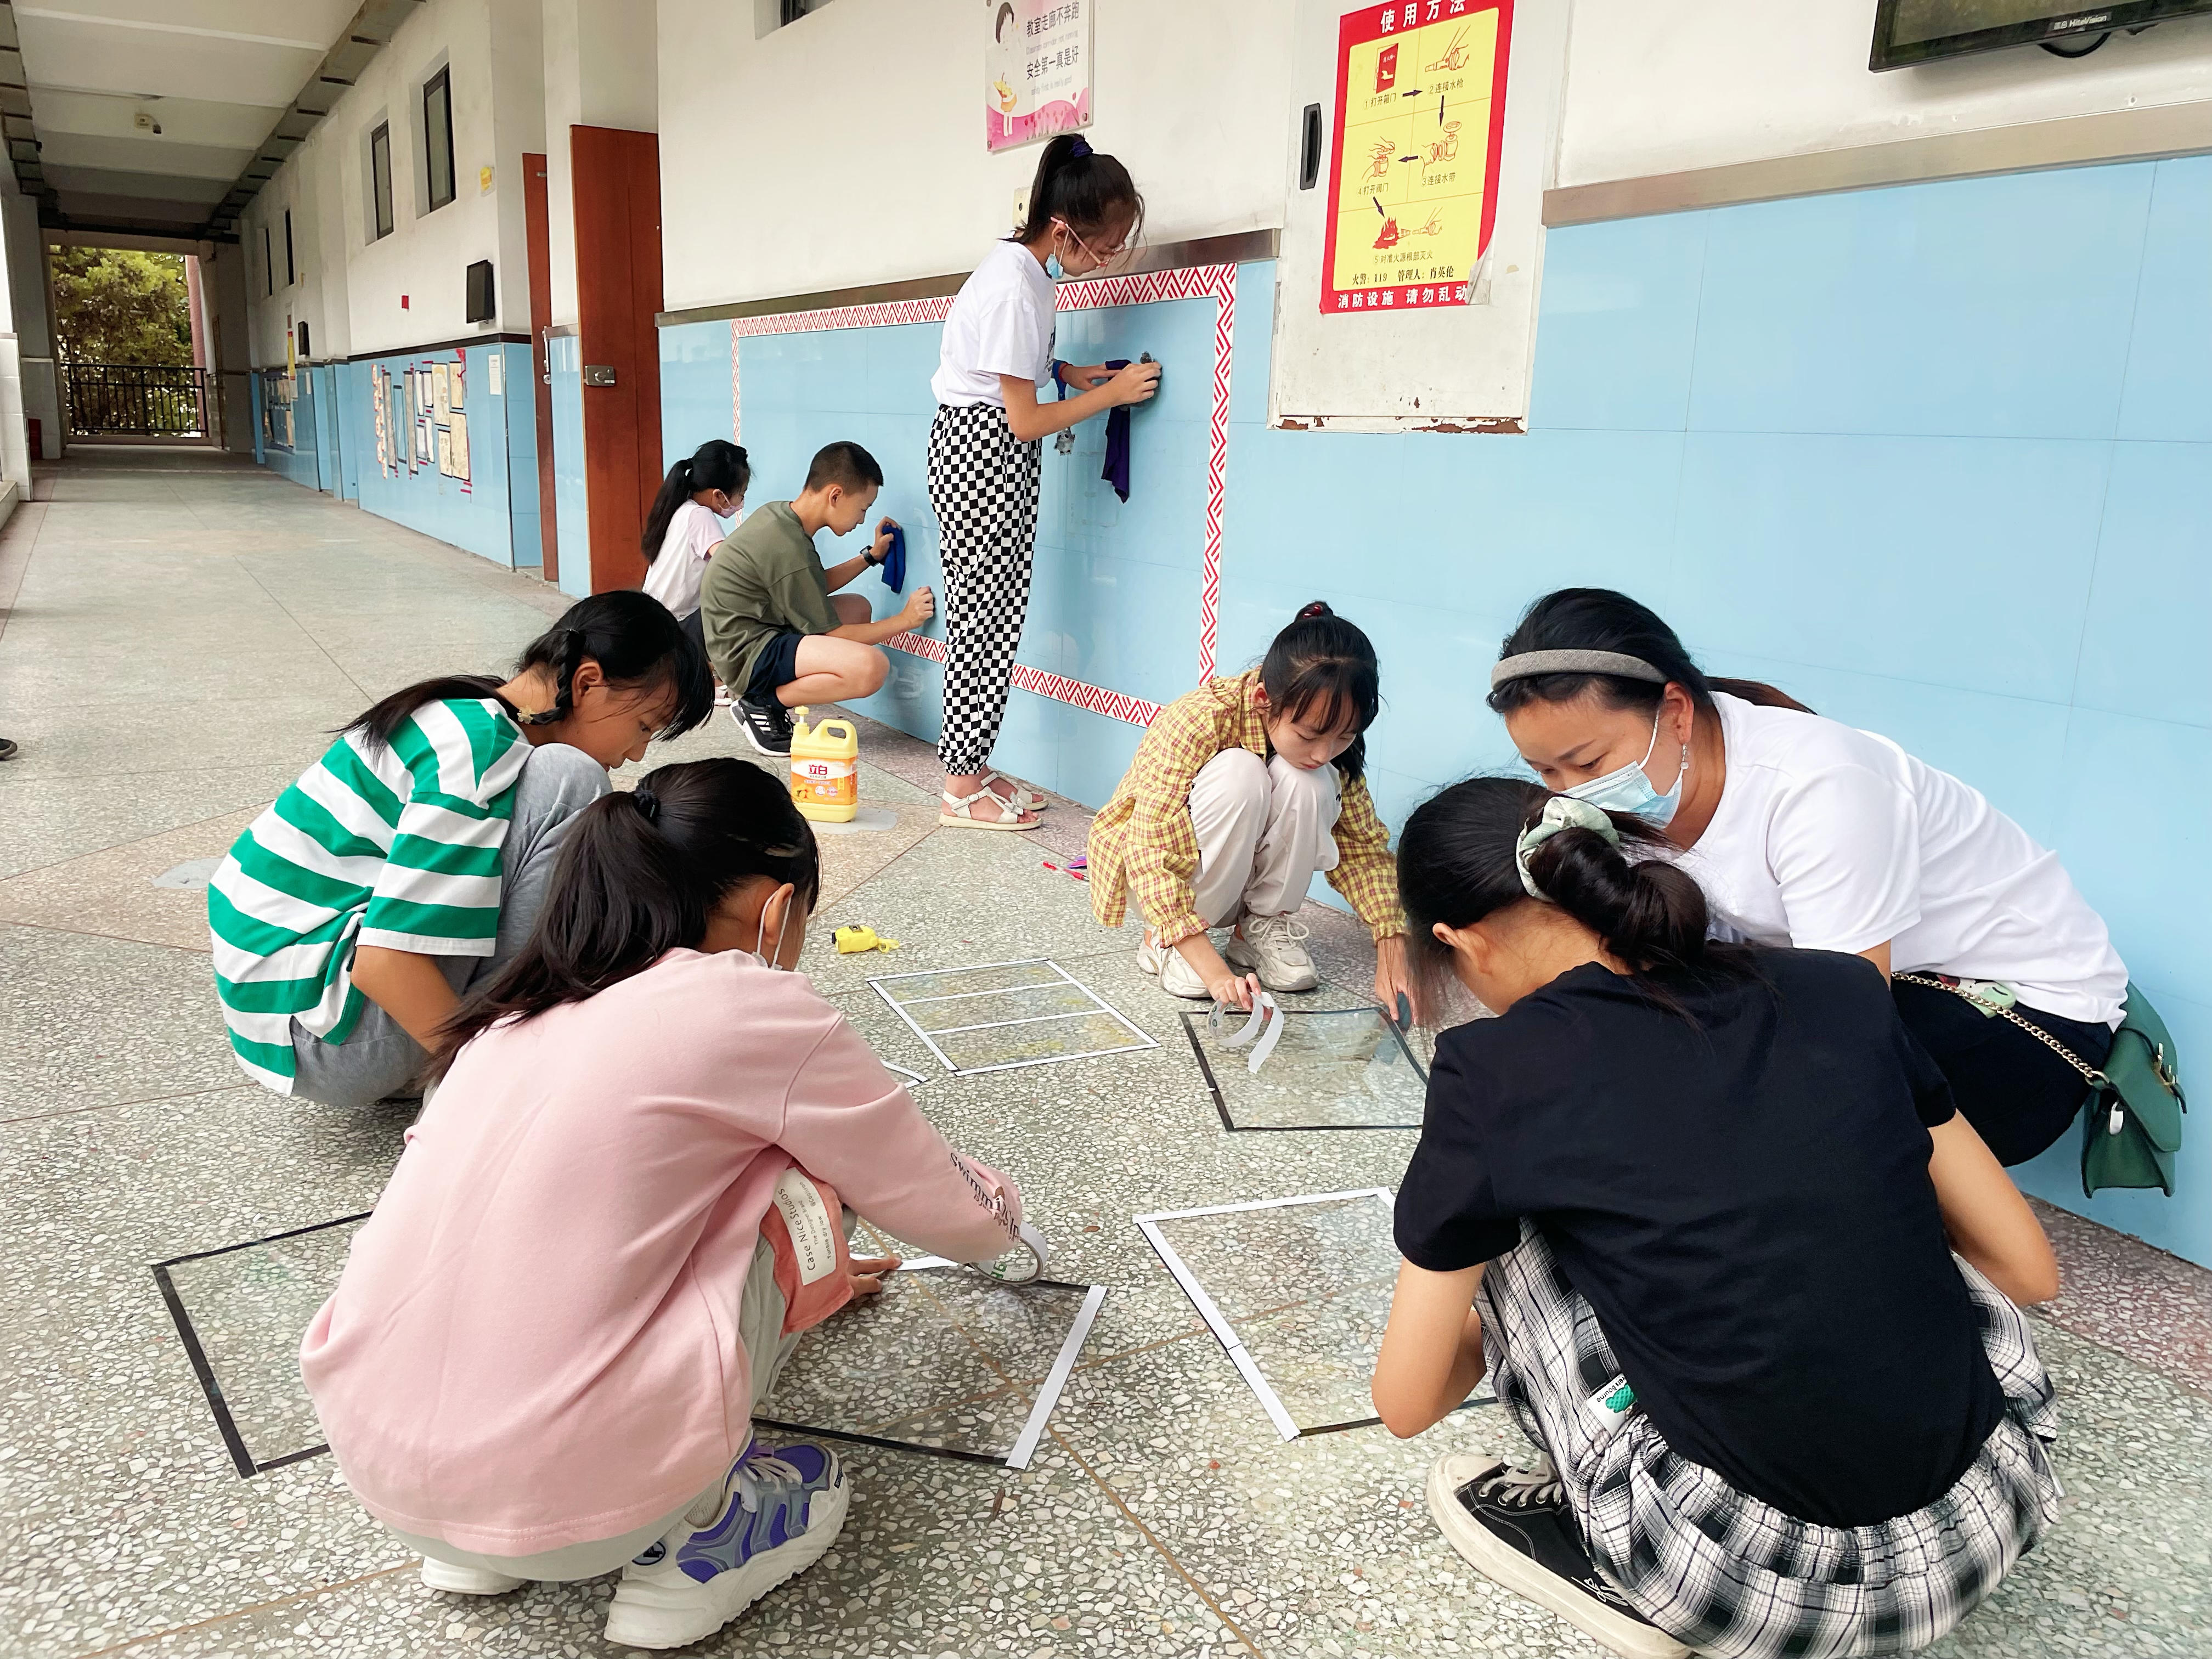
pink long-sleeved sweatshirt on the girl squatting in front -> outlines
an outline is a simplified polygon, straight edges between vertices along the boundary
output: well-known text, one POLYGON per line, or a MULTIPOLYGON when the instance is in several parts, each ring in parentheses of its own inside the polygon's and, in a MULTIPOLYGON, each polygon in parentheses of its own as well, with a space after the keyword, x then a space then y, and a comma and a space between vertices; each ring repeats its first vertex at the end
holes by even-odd
POLYGON ((953 1261, 1020 1221, 805 975, 743 951, 478 1035, 301 1347, 354 1495, 487 1555, 697 1498, 750 1433, 737 1303, 792 1161, 953 1261))

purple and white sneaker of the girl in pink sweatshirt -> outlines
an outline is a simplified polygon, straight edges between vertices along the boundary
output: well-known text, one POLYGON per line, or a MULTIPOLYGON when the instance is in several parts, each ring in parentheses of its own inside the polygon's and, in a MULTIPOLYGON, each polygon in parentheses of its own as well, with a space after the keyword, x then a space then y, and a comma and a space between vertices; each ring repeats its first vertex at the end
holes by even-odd
POLYGON ((686 1648, 721 1630, 783 1579, 814 1566, 845 1524, 852 1491, 830 1447, 759 1436, 723 1475, 721 1513, 679 1522, 622 1568, 606 1639, 686 1648))

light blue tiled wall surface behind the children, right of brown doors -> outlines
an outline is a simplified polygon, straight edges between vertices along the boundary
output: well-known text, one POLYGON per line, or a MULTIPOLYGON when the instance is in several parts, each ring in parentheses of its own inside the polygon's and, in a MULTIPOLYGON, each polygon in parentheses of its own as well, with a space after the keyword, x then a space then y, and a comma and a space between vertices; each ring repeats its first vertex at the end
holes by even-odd
MULTIPOLYGON (((2212 159, 1555 230, 1526 438, 1270 431, 1272 316, 1274 268, 1245 265, 1219 661, 1256 659, 1314 597, 1360 622, 1383 655, 1369 752, 1387 821, 1511 763, 1482 668, 1517 613, 1555 586, 1619 586, 1714 670, 1893 737, 2057 847, 2203 1093, 2212 159), (2073 250, 2064 316, 2048 248, 2073 250)), ((1137 414, 1128 507, 1097 484, 1099 422, 1073 458, 1046 451, 1022 661, 1166 701, 1194 661, 1210 305, 1060 327, 1062 356, 1150 347, 1168 376, 1137 414)), ((885 511, 918 531, 911 580, 931 584, 938 332, 741 347, 754 500, 858 438, 885 465, 885 511)), ((661 385, 670 453, 728 436, 728 325, 668 330, 661 385)), ((894 653, 869 712, 933 737, 938 670, 894 653)), ((1015 692, 1000 759, 1099 803, 1135 741, 1015 692)), ((2183 1201, 2086 1203, 2077 1159, 2068 1137, 2024 1183, 2212 1265, 2203 1126, 2183 1201)))

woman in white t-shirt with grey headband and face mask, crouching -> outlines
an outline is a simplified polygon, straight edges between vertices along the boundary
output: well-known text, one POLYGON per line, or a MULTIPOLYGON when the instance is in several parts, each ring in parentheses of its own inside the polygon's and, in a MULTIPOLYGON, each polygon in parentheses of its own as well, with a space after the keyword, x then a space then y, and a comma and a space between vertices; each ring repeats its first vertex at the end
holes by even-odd
POLYGON ((1893 975, 1898 1013, 2002 1164, 2081 1110, 2081 1073, 1991 1009, 2099 1066, 2128 969, 2057 854, 1978 790, 1772 686, 1708 679, 1608 588, 1537 599, 1489 701, 1546 785, 1663 825, 1728 933, 1893 975))

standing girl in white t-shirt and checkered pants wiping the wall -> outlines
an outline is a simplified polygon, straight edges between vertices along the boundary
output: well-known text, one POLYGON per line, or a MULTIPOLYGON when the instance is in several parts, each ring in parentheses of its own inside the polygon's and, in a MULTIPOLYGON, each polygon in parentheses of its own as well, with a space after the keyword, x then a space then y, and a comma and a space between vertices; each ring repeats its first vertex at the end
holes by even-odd
POLYGON ((1159 385, 1157 363, 1119 374, 1102 363, 1060 365, 1079 392, 1037 403, 1053 374, 1053 276, 1084 276, 1113 261, 1144 223, 1128 168, 1062 133, 1044 146, 1029 186, 1029 219, 991 248, 960 285, 929 387, 929 504, 945 553, 945 796, 938 823, 967 830, 1035 830, 1044 796, 991 770, 1006 712, 1013 653, 1029 611, 1029 560, 1037 538, 1040 440, 1159 385))

